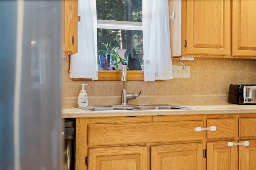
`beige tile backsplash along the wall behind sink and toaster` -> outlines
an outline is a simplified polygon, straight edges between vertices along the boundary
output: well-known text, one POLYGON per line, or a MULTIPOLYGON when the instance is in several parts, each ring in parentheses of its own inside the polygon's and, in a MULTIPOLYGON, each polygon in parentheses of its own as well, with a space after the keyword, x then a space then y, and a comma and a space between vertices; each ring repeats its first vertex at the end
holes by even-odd
MULTIPOLYGON (((182 61, 184 63, 184 61, 182 61)), ((172 59, 173 65, 181 65, 172 59)), ((229 84, 256 84, 256 60, 198 59, 185 61, 190 78, 155 82, 128 81, 127 92, 141 95, 129 104, 219 103, 228 101, 229 84)), ((120 104, 121 81, 73 81, 69 78, 69 57, 63 58, 63 106, 77 106, 82 83, 89 105, 120 104)))

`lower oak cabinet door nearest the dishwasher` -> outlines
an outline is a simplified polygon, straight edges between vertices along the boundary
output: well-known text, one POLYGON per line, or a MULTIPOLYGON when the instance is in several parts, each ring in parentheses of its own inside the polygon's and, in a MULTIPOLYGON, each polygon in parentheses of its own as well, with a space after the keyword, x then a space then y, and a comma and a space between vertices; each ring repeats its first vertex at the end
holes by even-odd
POLYGON ((89 149, 89 170, 147 170, 147 148, 89 149))

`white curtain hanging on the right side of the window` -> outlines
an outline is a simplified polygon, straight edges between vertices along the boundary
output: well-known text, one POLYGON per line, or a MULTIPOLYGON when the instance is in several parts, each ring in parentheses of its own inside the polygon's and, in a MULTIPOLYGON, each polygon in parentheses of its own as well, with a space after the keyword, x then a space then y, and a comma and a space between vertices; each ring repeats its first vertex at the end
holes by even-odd
POLYGON ((168 0, 142 0, 144 81, 172 79, 168 0))

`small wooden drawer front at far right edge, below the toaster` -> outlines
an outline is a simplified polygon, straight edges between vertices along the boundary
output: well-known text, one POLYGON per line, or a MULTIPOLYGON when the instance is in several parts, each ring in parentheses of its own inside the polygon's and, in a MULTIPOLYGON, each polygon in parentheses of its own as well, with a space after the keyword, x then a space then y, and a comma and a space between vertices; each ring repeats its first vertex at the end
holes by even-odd
POLYGON ((256 118, 239 119, 239 137, 256 137, 256 118))

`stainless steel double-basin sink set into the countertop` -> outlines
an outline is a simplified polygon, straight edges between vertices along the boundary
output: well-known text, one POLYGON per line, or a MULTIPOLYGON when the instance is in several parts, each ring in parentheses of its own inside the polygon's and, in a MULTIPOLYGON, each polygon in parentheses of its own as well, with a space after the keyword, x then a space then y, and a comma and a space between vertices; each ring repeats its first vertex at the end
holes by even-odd
POLYGON ((110 105, 110 106, 88 106, 78 107, 86 111, 130 111, 130 110, 180 110, 197 109, 194 107, 173 106, 173 105, 110 105))

